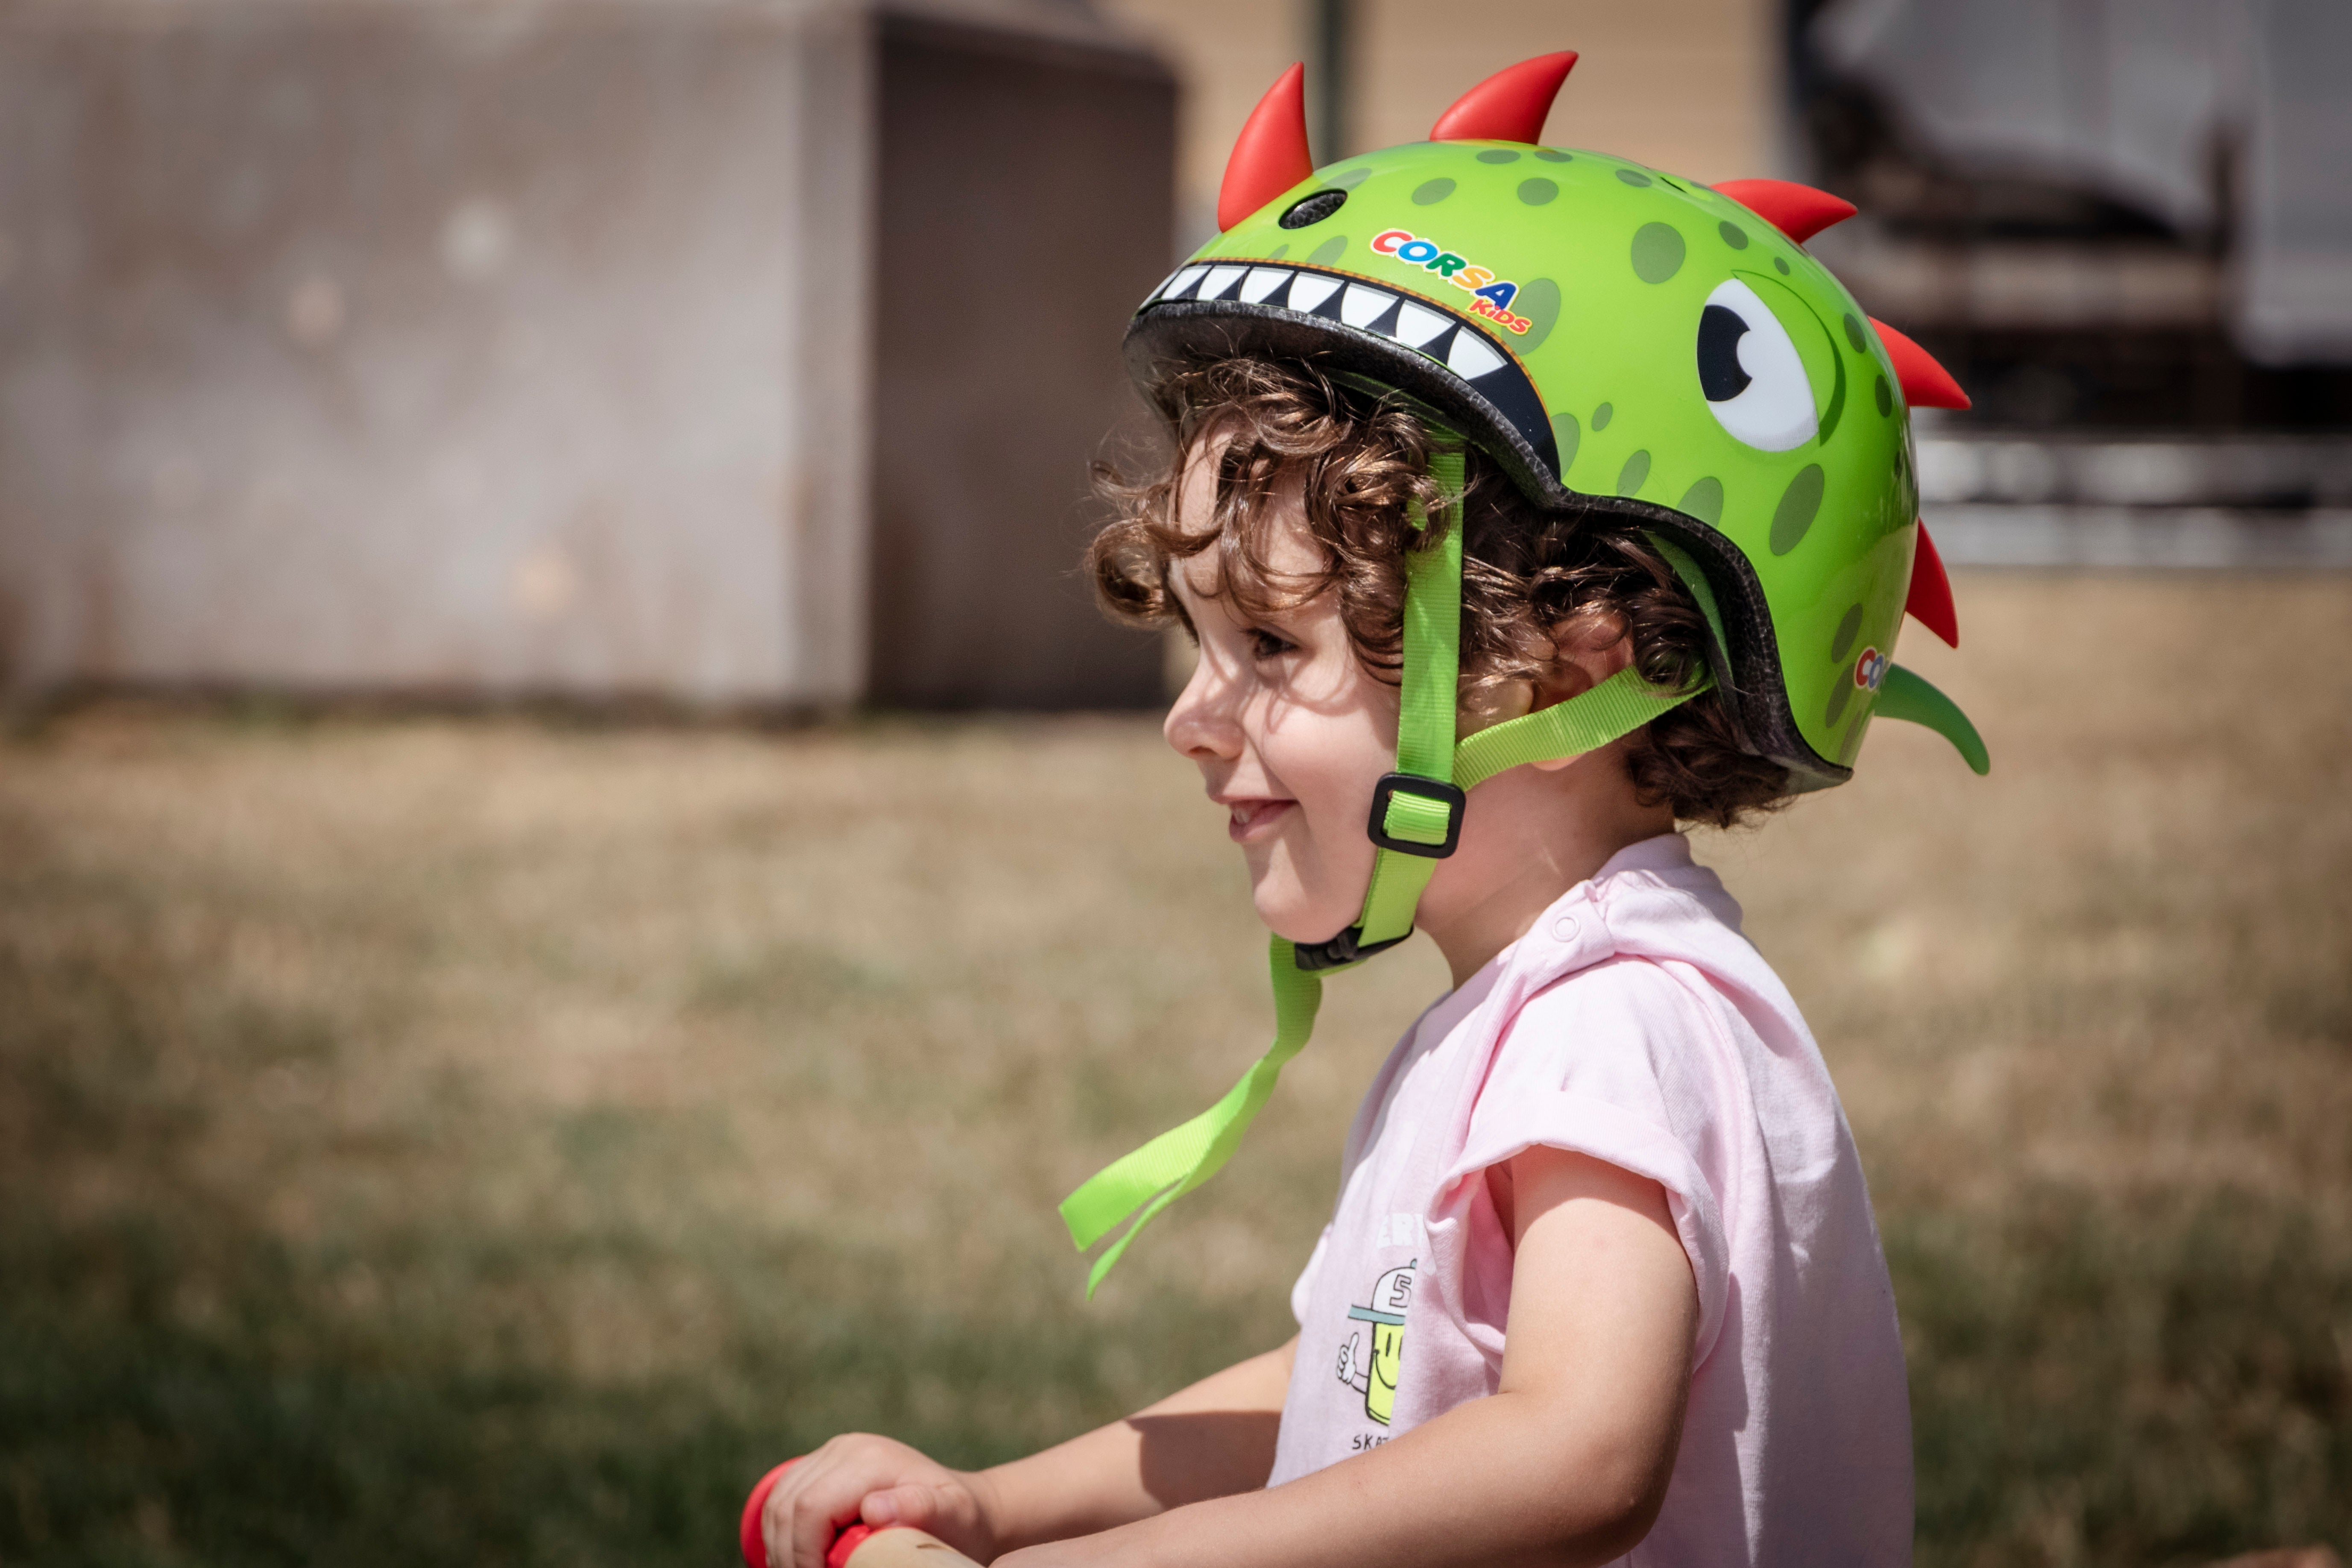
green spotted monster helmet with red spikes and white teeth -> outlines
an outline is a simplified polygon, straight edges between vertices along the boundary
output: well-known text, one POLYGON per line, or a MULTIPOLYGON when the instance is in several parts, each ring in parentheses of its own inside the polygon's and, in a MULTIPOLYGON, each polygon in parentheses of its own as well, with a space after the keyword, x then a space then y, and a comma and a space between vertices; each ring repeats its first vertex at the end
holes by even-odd
POLYGON ((1804 252, 1851 205, 1536 146, 1573 63, 1512 66, 1428 141, 1324 169, 1291 66, 1235 143, 1218 237, 1136 310, 1131 374, 1315 355, 1397 388, 1534 503, 1628 515, 1696 562, 1748 743, 1799 790, 1851 776, 1872 715, 1983 773, 1959 708, 1891 663, 1905 611, 1959 644, 1910 409, 1969 400, 1804 252))

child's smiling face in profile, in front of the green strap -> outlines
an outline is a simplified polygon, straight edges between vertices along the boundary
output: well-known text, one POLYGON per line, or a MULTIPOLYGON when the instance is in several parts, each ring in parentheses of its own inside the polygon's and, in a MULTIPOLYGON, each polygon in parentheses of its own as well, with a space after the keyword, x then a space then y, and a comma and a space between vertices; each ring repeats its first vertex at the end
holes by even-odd
MULTIPOLYGON (((1216 447, 1185 473, 1181 520, 1204 531, 1216 447)), ((1312 574, 1296 491, 1282 496, 1270 567, 1312 574)), ((1200 665, 1169 710, 1167 738, 1200 764, 1209 799, 1249 860, 1251 893, 1277 936, 1319 943, 1355 924, 1371 879, 1371 790, 1395 766, 1397 689, 1357 663, 1336 595, 1279 616, 1242 616, 1216 595, 1214 552, 1176 562, 1176 599, 1200 635, 1200 665)))

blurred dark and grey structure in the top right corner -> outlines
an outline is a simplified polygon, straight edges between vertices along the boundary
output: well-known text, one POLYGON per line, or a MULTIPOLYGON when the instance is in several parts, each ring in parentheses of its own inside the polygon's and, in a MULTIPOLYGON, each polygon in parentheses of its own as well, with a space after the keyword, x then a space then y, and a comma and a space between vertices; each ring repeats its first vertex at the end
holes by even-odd
POLYGON ((1945 555, 2352 564, 2352 7, 1795 0, 1816 252, 1971 390, 1945 555))

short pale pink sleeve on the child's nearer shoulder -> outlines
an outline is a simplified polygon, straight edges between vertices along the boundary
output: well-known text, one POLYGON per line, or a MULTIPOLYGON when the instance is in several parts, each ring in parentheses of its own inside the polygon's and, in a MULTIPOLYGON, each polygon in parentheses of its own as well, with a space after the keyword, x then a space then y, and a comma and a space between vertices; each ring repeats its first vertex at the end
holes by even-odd
POLYGON ((1658 1182, 1698 1286, 1705 1359, 1731 1279, 1719 1133, 1736 1091, 1722 1065, 1722 1020, 1661 964, 1618 957, 1581 969, 1512 1018, 1444 1185, 1538 1145, 1658 1182))

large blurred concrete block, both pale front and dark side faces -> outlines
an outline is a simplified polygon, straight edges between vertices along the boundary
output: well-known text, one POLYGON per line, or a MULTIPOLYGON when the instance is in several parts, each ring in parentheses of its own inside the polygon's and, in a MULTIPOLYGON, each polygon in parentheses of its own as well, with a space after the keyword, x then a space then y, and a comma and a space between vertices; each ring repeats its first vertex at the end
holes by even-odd
POLYGON ((0 0, 0 689, 1150 701, 1070 569, 1174 87, 924 9, 0 0))

